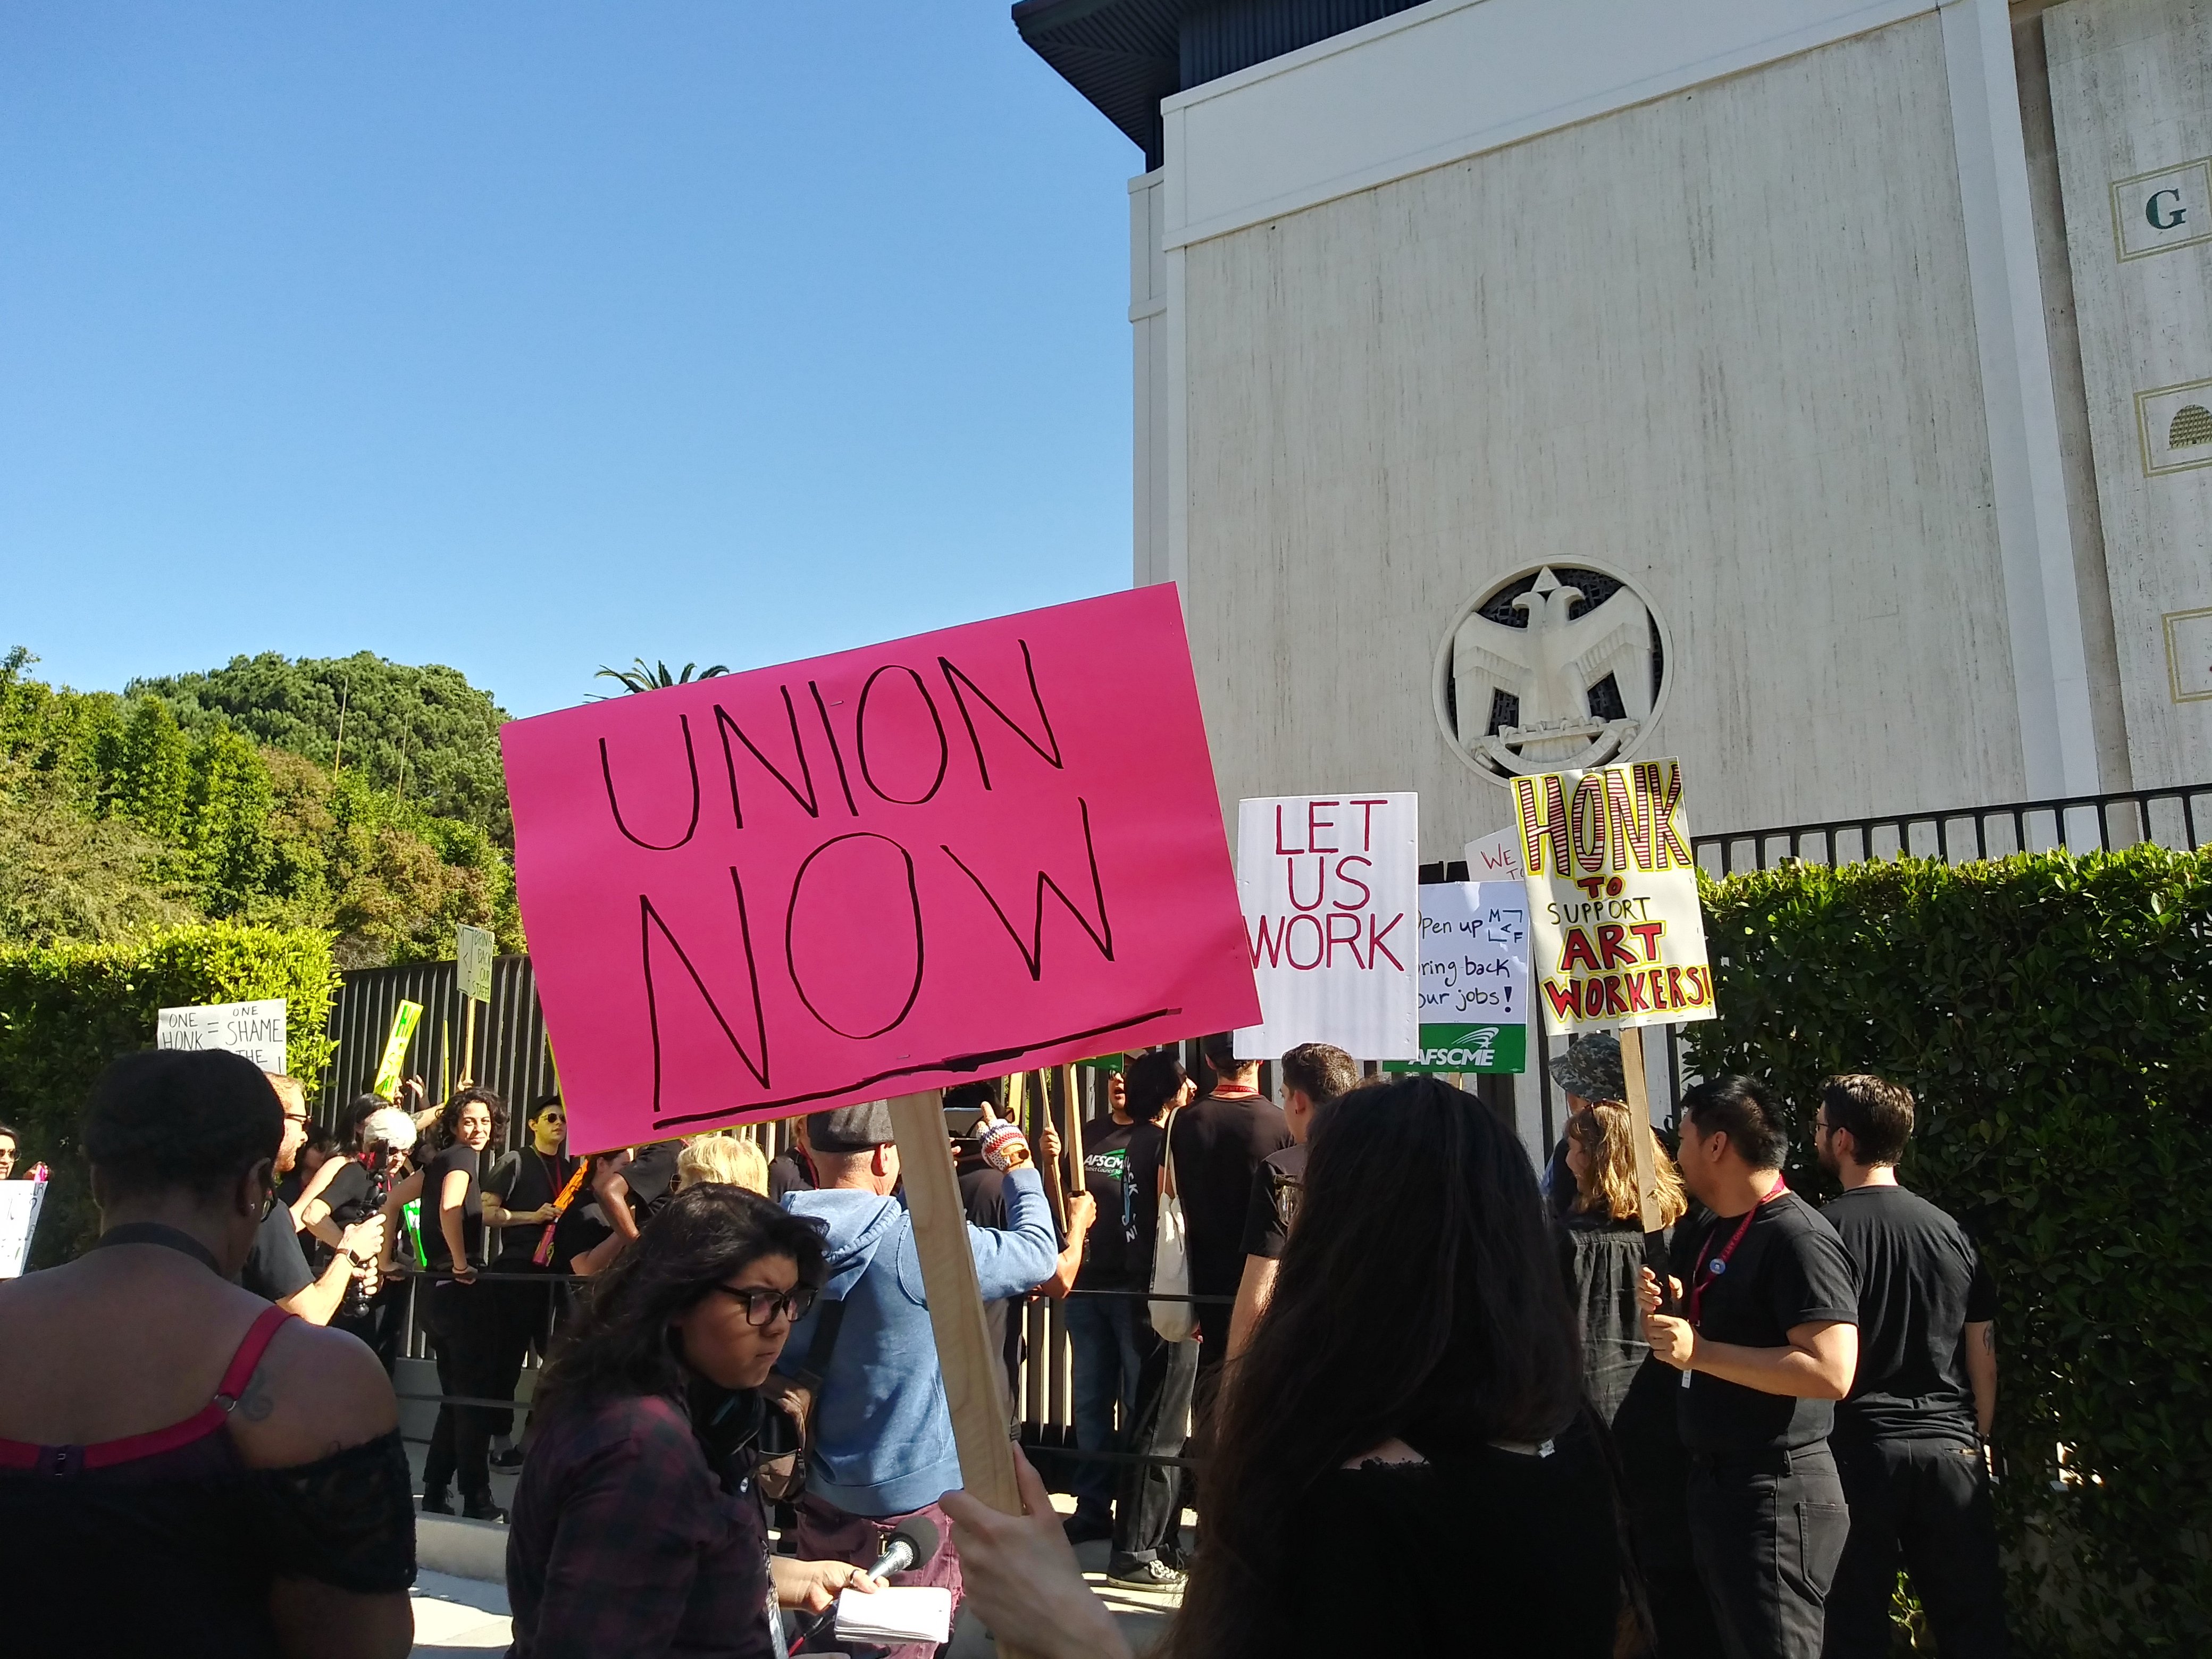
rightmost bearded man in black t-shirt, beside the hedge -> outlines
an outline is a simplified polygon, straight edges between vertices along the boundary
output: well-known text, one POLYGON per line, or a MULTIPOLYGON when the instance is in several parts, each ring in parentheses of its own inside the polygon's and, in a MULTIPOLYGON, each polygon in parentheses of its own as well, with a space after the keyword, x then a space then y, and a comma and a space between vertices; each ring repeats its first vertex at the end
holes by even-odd
POLYGON ((2004 1579, 1982 1440, 1997 1409, 1997 1287, 1958 1221, 1898 1186, 1913 1097, 1820 1086, 1814 1148, 1843 1181, 1823 1214, 1858 1267, 1858 1380, 1836 1407, 1851 1542, 1827 1599, 1829 1659, 1889 1652, 1898 1564, 1944 1659, 2004 1652, 2004 1579))

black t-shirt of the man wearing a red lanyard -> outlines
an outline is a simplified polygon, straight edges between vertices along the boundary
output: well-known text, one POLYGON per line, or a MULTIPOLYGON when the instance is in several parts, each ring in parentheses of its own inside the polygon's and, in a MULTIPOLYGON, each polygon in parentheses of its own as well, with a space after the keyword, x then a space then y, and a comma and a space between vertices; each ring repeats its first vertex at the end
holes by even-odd
MULTIPOLYGON (((1699 1336, 1739 1347, 1787 1347, 1796 1325, 1858 1323, 1858 1279, 1843 1239, 1796 1192, 1756 1206, 1728 1267, 1708 1276, 1739 1221, 1743 1217, 1719 1217, 1690 1256, 1683 1285, 1705 1279, 1699 1336)), ((1825 1440, 1836 1420, 1829 1400, 1761 1394, 1705 1371, 1683 1376, 1690 1383, 1679 1389, 1677 1411, 1690 1451, 1790 1451, 1825 1440)))

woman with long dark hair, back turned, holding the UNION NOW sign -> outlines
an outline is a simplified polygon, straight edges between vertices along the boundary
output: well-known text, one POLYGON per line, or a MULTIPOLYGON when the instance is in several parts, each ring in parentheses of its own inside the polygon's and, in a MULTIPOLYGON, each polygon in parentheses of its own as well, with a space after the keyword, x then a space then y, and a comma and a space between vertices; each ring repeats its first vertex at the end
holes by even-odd
MULTIPOLYGON (((1323 1113, 1274 1296, 1206 1471, 1164 1652, 1610 1659, 1626 1559, 1535 1175, 1438 1077, 1323 1113)), ((1040 1657, 1115 1655, 1031 1517, 945 1500, 978 1613, 1040 1657)), ((1064 1544, 1060 1546, 1064 1551, 1064 1544)))

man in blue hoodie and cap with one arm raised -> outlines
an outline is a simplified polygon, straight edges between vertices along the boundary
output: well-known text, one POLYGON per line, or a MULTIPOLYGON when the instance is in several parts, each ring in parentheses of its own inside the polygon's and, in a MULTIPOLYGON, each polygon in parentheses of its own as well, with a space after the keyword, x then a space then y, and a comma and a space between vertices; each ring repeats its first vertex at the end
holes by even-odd
MULTIPOLYGON (((898 1186, 891 1108, 883 1102, 814 1113, 807 1146, 821 1181, 785 1192, 783 1208, 814 1217, 827 1234, 830 1283, 785 1343, 816 1385, 807 1489, 799 1500, 799 1551, 812 1559, 872 1566, 898 1522, 927 1513, 945 1544, 896 1584, 940 1584, 960 1606, 960 1557, 938 1498, 960 1486, 960 1453, 945 1407, 945 1376, 929 1329, 914 1219, 898 1186)), ((951 1157, 951 1150, 945 1152, 951 1157)), ((984 1152, 1006 1170, 1006 1228, 969 1228, 982 1298, 1026 1296, 1053 1276, 1060 1239, 1029 1144, 1002 1124, 984 1152)), ((785 1369, 794 1369, 790 1363, 785 1369)), ((856 1648, 885 1659, 927 1659, 927 1646, 856 1648)))

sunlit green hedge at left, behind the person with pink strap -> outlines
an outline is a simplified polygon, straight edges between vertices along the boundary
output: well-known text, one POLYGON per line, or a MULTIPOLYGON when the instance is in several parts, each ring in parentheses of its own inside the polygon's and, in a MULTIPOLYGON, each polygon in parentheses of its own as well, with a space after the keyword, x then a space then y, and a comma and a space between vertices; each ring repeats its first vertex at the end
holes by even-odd
POLYGON ((104 1064, 153 1046, 159 1009, 283 998, 285 1062, 312 1093, 336 991, 330 938, 312 929, 210 922, 133 945, 0 947, 0 1121, 22 1133, 22 1164, 53 1166, 33 1265, 93 1230, 77 1113, 104 1064))

